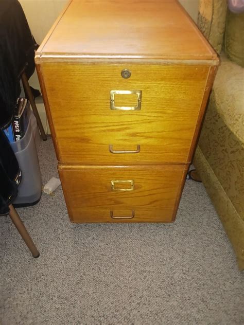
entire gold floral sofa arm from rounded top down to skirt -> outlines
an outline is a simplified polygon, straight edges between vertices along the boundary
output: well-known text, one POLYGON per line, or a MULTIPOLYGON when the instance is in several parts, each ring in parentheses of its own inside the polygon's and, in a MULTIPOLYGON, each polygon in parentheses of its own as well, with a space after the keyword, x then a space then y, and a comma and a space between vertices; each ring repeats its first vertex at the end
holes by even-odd
POLYGON ((194 165, 244 269, 244 69, 221 55, 194 165))

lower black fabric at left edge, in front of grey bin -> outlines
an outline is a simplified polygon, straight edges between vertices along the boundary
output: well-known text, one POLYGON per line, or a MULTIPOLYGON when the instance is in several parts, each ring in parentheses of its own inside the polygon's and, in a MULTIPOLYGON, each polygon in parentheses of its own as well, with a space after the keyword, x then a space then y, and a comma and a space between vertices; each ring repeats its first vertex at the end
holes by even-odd
POLYGON ((0 130, 0 215, 9 212, 9 204, 18 193, 15 179, 20 173, 19 164, 5 133, 0 130))

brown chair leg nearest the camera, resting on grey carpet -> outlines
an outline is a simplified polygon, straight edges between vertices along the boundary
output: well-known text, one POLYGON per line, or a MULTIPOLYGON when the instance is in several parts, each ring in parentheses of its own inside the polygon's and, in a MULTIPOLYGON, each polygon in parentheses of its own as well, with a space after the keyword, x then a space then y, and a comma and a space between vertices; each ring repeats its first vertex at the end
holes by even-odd
POLYGON ((40 256, 39 251, 37 250, 37 247, 34 245, 34 243, 32 242, 32 239, 30 238, 30 235, 28 233, 28 231, 26 230, 23 222, 20 219, 19 214, 17 213, 17 211, 14 209, 14 207, 12 206, 12 204, 10 204, 9 206, 9 216, 13 222, 13 224, 15 225, 15 227, 18 229, 18 231, 21 234, 21 237, 24 239, 27 247, 29 248, 29 250, 31 251, 31 254, 34 258, 37 258, 40 256))

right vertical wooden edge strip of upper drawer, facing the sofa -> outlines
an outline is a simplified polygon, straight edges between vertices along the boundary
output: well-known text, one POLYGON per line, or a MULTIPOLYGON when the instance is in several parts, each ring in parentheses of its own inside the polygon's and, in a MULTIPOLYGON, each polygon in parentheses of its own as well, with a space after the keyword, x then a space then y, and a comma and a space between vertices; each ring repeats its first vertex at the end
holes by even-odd
MULTIPOLYGON (((194 136, 193 136, 193 140, 191 142, 191 147, 190 147, 190 151, 189 151, 189 155, 188 155, 188 161, 189 162, 192 161, 193 156, 194 156, 195 151, 196 151, 196 148, 197 148, 197 143, 198 143, 198 139, 199 139, 199 136, 200 136, 200 130, 202 128, 202 124, 203 124, 203 120, 204 120, 203 117, 204 117, 204 114, 205 114, 207 100, 208 100, 208 97, 210 96, 210 92, 211 92, 211 89, 213 87, 213 83, 214 83, 214 79, 215 79, 217 70, 218 70, 218 66, 211 66, 210 70, 208 72, 206 86, 205 86, 203 99, 202 99, 202 103, 201 103, 201 108, 200 108, 200 112, 199 112, 199 116, 198 116, 197 126, 196 126, 196 129, 195 129, 195 133, 194 133, 194 136)), ((189 116, 189 118, 190 118, 190 116, 189 116)))

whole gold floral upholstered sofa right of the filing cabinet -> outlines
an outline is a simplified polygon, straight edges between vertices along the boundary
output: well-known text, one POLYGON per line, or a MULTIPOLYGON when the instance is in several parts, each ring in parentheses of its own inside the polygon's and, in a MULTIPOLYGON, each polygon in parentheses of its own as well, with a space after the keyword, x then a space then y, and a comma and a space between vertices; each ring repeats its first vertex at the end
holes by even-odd
POLYGON ((194 165, 244 269, 244 13, 200 0, 198 26, 220 55, 194 165))

